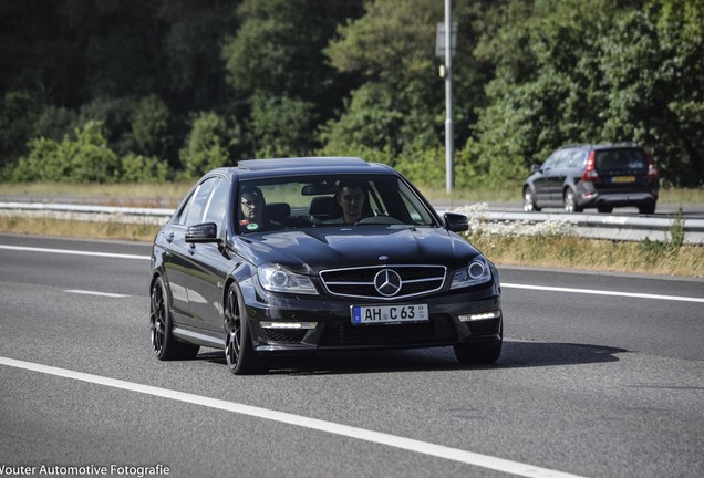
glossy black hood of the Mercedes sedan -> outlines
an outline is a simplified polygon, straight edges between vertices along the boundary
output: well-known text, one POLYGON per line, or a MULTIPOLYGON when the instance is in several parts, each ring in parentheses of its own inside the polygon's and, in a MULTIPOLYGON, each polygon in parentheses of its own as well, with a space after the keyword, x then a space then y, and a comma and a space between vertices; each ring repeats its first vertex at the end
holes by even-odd
POLYGON ((323 227, 237 237, 235 250, 253 266, 277 263, 296 272, 379 264, 467 263, 479 252, 439 228, 323 227))

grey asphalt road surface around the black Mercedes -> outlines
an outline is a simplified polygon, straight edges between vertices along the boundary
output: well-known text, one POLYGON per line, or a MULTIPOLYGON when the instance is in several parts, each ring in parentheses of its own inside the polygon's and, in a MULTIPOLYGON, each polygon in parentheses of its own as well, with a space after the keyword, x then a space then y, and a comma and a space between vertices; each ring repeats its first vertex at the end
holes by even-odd
POLYGON ((148 252, 0 235, 0 472, 704 476, 703 280, 499 267, 495 366, 435 349, 240 377, 214 350, 152 356, 148 252))

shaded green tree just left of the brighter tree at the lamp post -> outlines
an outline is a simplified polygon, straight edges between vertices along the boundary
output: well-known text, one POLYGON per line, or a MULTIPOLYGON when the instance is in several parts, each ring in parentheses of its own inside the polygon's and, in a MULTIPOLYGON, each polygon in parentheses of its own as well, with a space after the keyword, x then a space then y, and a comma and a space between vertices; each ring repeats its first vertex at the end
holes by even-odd
POLYGON ((359 15, 349 0, 245 0, 240 28, 222 49, 235 111, 255 141, 253 154, 310 154, 320 121, 349 91, 322 49, 337 24, 359 15), (269 153, 265 153, 269 152, 269 153))

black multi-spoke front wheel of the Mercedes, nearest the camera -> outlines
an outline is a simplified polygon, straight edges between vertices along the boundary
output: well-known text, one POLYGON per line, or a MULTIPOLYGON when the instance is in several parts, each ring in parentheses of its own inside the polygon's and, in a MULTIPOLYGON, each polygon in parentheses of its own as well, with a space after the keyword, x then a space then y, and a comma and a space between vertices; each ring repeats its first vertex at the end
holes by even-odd
POLYGON ((237 285, 230 284, 225 298, 225 360, 235 375, 253 375, 269 372, 269 360, 255 352, 247 311, 237 285))

